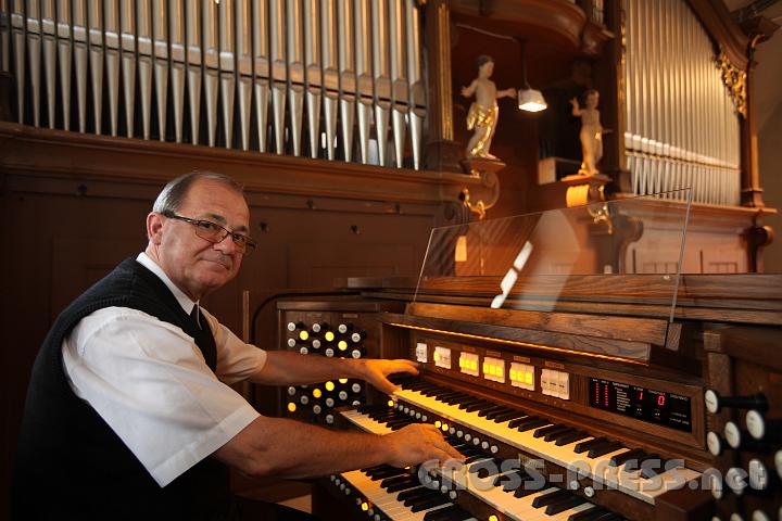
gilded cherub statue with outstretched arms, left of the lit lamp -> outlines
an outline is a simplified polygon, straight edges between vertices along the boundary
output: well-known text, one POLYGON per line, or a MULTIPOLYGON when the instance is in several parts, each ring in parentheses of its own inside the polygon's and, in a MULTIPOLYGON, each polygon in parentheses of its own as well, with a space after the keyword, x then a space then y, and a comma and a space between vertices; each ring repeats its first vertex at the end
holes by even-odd
POLYGON ((496 160, 497 157, 489 153, 500 113, 496 100, 515 97, 516 89, 496 90, 494 81, 489 79, 494 72, 494 60, 491 56, 481 54, 476 59, 476 65, 478 66, 478 77, 469 87, 462 87, 462 96, 471 98, 475 94, 476 97, 476 101, 467 113, 467 129, 475 128, 475 134, 467 143, 467 157, 496 160))

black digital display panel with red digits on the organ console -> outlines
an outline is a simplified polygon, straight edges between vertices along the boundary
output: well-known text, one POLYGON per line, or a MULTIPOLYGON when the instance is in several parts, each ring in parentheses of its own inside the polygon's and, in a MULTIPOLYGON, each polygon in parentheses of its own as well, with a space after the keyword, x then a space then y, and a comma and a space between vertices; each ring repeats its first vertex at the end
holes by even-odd
POLYGON ((649 423, 692 432, 689 396, 590 378, 590 405, 649 423))

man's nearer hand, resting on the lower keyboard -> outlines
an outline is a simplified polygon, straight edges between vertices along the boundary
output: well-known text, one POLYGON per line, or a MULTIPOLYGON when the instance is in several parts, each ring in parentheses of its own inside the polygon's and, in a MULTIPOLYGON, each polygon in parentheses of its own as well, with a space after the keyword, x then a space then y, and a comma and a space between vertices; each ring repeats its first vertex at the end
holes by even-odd
POLYGON ((439 460, 441 465, 449 459, 465 459, 430 423, 406 425, 387 434, 383 441, 388 443, 388 463, 394 467, 409 467, 432 459, 439 460))

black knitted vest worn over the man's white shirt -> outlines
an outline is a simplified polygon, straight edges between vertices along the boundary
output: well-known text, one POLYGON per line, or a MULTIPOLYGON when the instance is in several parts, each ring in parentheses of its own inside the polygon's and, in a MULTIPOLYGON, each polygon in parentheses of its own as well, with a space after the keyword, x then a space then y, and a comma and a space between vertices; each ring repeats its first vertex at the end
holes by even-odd
POLYGON ((54 322, 27 390, 12 487, 17 519, 223 519, 228 468, 206 458, 161 488, 103 419, 71 390, 63 339, 81 318, 121 306, 144 312, 195 339, 214 371, 214 338, 134 258, 87 290, 54 322))

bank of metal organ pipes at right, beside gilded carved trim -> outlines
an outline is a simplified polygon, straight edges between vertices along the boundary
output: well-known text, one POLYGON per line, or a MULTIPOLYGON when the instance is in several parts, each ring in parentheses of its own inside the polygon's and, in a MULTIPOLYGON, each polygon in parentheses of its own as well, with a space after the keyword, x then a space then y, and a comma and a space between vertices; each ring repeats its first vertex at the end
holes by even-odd
POLYGON ((740 120, 715 47, 682 0, 628 0, 627 131, 632 187, 691 187, 698 203, 740 204, 740 120))

